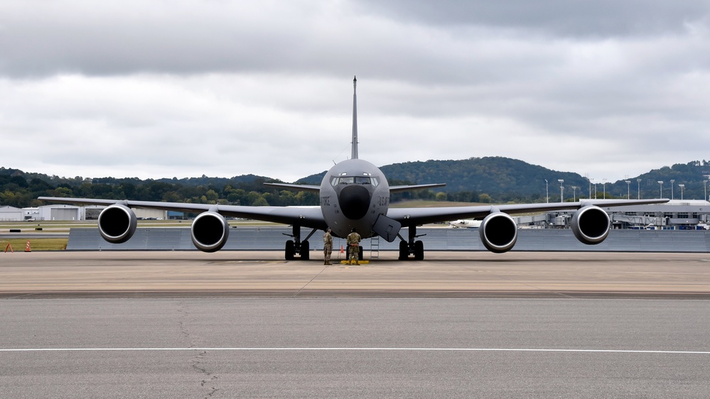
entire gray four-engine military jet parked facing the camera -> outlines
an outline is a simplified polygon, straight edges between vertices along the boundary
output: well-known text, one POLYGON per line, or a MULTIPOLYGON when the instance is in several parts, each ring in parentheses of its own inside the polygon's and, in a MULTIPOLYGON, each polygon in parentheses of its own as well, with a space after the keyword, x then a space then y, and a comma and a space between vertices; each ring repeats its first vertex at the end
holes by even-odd
MULTIPOLYGON (((480 240, 489 251, 510 250, 517 240, 517 225, 509 214, 578 209, 571 221, 574 236, 584 244, 598 244, 608 236, 611 222, 600 208, 633 204, 655 204, 668 200, 580 200, 545 204, 505 204, 472 207, 390 208, 394 192, 441 187, 443 184, 390 186, 380 168, 357 155, 357 79, 353 79, 353 137, 350 159, 337 163, 316 185, 264 183, 290 190, 318 192, 319 207, 247 207, 222 204, 185 204, 132 200, 98 200, 82 198, 39 197, 48 202, 108 205, 99 214, 99 234, 110 243, 128 241, 136 231, 136 214, 131 208, 163 209, 199 213, 191 226, 190 236, 200 251, 219 251, 227 242, 230 228, 225 217, 241 217, 266 222, 290 224, 293 234, 286 241, 286 260, 296 256, 309 258, 308 239, 318 230, 333 230, 344 238, 355 229, 363 239, 380 236, 389 242, 399 238, 399 259, 413 256, 424 259, 424 244, 417 240, 416 227, 456 219, 483 219, 480 240), (301 227, 312 229, 301 240, 301 227), (407 227, 407 238, 400 234, 407 227)), ((362 248, 360 248, 362 256, 362 248)))

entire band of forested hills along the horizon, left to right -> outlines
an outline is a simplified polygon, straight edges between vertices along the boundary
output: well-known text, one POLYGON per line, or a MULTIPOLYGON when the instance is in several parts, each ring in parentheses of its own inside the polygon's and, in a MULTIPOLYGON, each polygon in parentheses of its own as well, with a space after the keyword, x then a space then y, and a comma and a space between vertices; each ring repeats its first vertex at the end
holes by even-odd
MULTIPOLYGON (((637 177, 606 182, 594 187, 577 173, 549 170, 522 160, 502 157, 469 158, 466 160, 427 160, 426 162, 395 163, 382 166, 390 185, 446 183, 437 190, 419 190, 393 195, 392 202, 404 199, 449 200, 459 202, 550 202, 560 200, 560 184, 564 180, 564 200, 588 198, 658 198, 658 181, 663 181, 663 197, 701 199, 704 182, 710 180, 710 163, 706 160, 664 166, 637 177), (546 181, 547 180, 547 185, 546 181), (674 180, 671 182, 671 180, 674 180), (683 185, 684 192, 681 192, 683 185), (671 187, 674 191, 671 192, 671 187), (547 189, 547 192, 546 192, 547 189)), ((298 182, 318 185, 326 172, 304 177, 298 182)), ((0 168, 0 207, 39 206, 40 196, 90 197, 114 200, 144 200, 242 205, 316 205, 313 192, 294 192, 265 187, 269 177, 242 175, 236 177, 189 177, 148 179, 136 177, 83 178, 58 177, 22 170, 0 168)))

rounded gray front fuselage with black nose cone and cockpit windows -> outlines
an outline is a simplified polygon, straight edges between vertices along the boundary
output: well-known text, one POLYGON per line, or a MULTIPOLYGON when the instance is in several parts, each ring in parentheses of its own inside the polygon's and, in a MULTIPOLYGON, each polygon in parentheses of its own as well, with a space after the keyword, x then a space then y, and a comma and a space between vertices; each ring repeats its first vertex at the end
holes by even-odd
POLYGON ((389 209, 389 183, 377 166, 361 159, 344 160, 321 181, 321 212, 333 234, 345 237, 355 229, 363 239, 389 209))

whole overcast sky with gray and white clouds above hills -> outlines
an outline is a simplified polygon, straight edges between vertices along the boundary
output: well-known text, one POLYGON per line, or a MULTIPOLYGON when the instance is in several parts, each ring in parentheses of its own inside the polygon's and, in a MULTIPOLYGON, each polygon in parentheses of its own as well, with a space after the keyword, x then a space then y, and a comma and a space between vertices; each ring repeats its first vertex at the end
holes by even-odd
POLYGON ((9 0, 0 166, 294 181, 350 155, 353 75, 375 165, 710 160, 707 0, 9 0))

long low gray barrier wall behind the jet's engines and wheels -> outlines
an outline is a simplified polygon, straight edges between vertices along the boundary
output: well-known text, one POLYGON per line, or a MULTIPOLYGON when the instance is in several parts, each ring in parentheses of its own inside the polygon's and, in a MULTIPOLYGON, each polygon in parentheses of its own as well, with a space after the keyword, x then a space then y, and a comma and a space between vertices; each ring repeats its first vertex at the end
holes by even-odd
MULTIPOLYGON (((406 236, 406 229, 402 229, 406 236)), ((302 229, 305 239, 310 230, 302 229)), ((223 251, 281 251, 289 226, 234 227, 223 251)), ((425 251, 486 251, 478 237, 478 229, 419 228, 425 251)), ((323 232, 311 239, 312 250, 323 249, 323 232)), ((370 251, 373 241, 362 240, 370 251)), ((399 242, 379 240, 380 251, 398 251, 399 242)), ((333 239, 333 250, 345 246, 344 239, 333 239)), ((110 244, 97 229, 71 229, 67 249, 70 251, 197 251, 188 228, 142 228, 125 244, 110 244)), ((604 252, 709 252, 710 231, 694 230, 612 230, 601 244, 585 245, 574 238, 569 229, 520 229, 512 251, 604 251, 604 252)))

